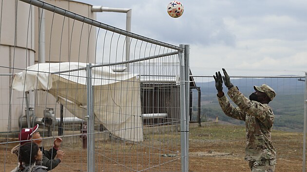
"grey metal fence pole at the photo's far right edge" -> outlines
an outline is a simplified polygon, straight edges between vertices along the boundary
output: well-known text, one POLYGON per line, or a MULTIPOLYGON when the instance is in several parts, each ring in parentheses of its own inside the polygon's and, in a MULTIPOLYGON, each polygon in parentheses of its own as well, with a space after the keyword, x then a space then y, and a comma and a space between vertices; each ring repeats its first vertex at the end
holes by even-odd
POLYGON ((305 98, 304 98, 304 137, 303 137, 303 172, 306 171, 306 130, 307 130, 307 73, 305 73, 305 98))

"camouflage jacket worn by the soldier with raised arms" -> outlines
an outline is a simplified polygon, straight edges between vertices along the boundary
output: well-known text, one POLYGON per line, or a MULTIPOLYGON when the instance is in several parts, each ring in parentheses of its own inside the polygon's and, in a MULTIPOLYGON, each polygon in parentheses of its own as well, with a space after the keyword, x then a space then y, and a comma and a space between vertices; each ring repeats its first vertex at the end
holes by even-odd
POLYGON ((275 159, 276 150, 271 142, 274 114, 268 104, 250 101, 236 86, 229 89, 230 99, 238 106, 233 107, 224 95, 218 98, 224 113, 237 120, 244 120, 246 126, 245 160, 275 159))

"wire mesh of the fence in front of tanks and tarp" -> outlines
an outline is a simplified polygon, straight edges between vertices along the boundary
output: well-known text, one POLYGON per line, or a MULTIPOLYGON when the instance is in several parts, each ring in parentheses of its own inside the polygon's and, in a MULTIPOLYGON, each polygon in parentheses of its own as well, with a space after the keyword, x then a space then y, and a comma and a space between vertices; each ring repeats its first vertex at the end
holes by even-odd
MULTIPOLYGON (((181 171, 181 48, 97 22, 93 13, 80 16, 39 0, 2 2, 1 13, 8 7, 16 13, 14 33, 21 29, 20 34, 26 35, 21 39, 15 34, 9 46, 23 56, 11 54, 15 64, 1 66, 1 71, 10 69, 9 76, 0 76, 5 78, 1 84, 5 138, 0 143, 5 155, 0 159, 1 169, 11 171, 18 166, 17 156, 10 151, 19 145, 22 128, 39 124, 40 146, 52 150, 56 138, 63 140, 60 150, 65 156, 52 171, 89 171, 88 163, 95 165, 95 171, 105 172, 181 171), (24 23, 19 22, 20 16, 26 18, 24 23), (38 54, 45 63, 38 63, 42 60, 38 54), (87 101, 87 65, 92 73, 92 104, 87 101), (6 111, 10 106, 14 110, 6 111), (87 133, 91 127, 88 108, 95 116, 91 133, 87 133), (89 139, 95 141, 94 149, 89 150, 89 139), (91 155, 94 159, 89 162, 91 155)), ((6 41, 1 38, 1 43, 6 41)), ((0 51, 5 53, 6 48, 1 44, 0 51)))

